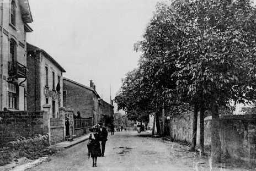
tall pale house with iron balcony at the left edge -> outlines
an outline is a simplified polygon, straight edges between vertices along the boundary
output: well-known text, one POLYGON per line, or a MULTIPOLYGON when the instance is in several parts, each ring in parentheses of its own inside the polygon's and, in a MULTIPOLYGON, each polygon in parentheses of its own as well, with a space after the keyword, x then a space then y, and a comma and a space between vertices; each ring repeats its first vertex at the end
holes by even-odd
POLYGON ((0 111, 26 110, 26 33, 33 30, 28 0, 1 1, 0 111))

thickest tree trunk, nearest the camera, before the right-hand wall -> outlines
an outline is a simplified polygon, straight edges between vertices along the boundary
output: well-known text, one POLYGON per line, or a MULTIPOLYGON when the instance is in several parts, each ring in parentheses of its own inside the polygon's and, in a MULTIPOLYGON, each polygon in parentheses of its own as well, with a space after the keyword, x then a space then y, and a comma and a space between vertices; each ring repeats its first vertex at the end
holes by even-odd
POLYGON ((221 141, 218 116, 218 104, 216 101, 211 103, 211 161, 212 163, 221 161, 221 141))

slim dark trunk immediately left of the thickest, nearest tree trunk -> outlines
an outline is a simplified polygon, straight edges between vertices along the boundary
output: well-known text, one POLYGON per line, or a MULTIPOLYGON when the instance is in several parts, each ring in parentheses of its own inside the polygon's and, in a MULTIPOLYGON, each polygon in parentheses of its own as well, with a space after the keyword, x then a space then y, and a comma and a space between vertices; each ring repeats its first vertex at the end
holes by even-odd
POLYGON ((200 140, 199 140, 199 146, 200 146, 200 156, 204 155, 204 133, 205 133, 205 109, 204 107, 200 108, 200 140))

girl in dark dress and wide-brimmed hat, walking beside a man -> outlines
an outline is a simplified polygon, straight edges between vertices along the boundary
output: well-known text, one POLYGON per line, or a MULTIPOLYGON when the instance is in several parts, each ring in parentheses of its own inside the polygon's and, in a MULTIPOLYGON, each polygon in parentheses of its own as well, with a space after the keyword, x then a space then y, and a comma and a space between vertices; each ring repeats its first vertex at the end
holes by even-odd
POLYGON ((89 131, 91 133, 89 136, 89 142, 87 144, 88 159, 91 156, 93 158, 93 167, 97 167, 97 157, 101 156, 100 144, 99 144, 100 137, 96 127, 90 128, 89 131))

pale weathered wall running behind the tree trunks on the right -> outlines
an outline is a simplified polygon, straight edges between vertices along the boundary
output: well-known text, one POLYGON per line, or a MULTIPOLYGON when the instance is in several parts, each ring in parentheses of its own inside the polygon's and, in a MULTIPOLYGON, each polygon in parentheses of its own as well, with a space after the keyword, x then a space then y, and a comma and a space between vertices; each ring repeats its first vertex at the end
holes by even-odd
MULTIPOLYGON (((206 117, 204 145, 211 145, 211 117, 206 117)), ((193 113, 174 117, 170 135, 180 141, 191 142, 193 113)), ((199 143, 199 117, 197 142, 199 143)), ((232 158, 256 164, 256 115, 229 115, 220 117, 221 150, 232 158)))

